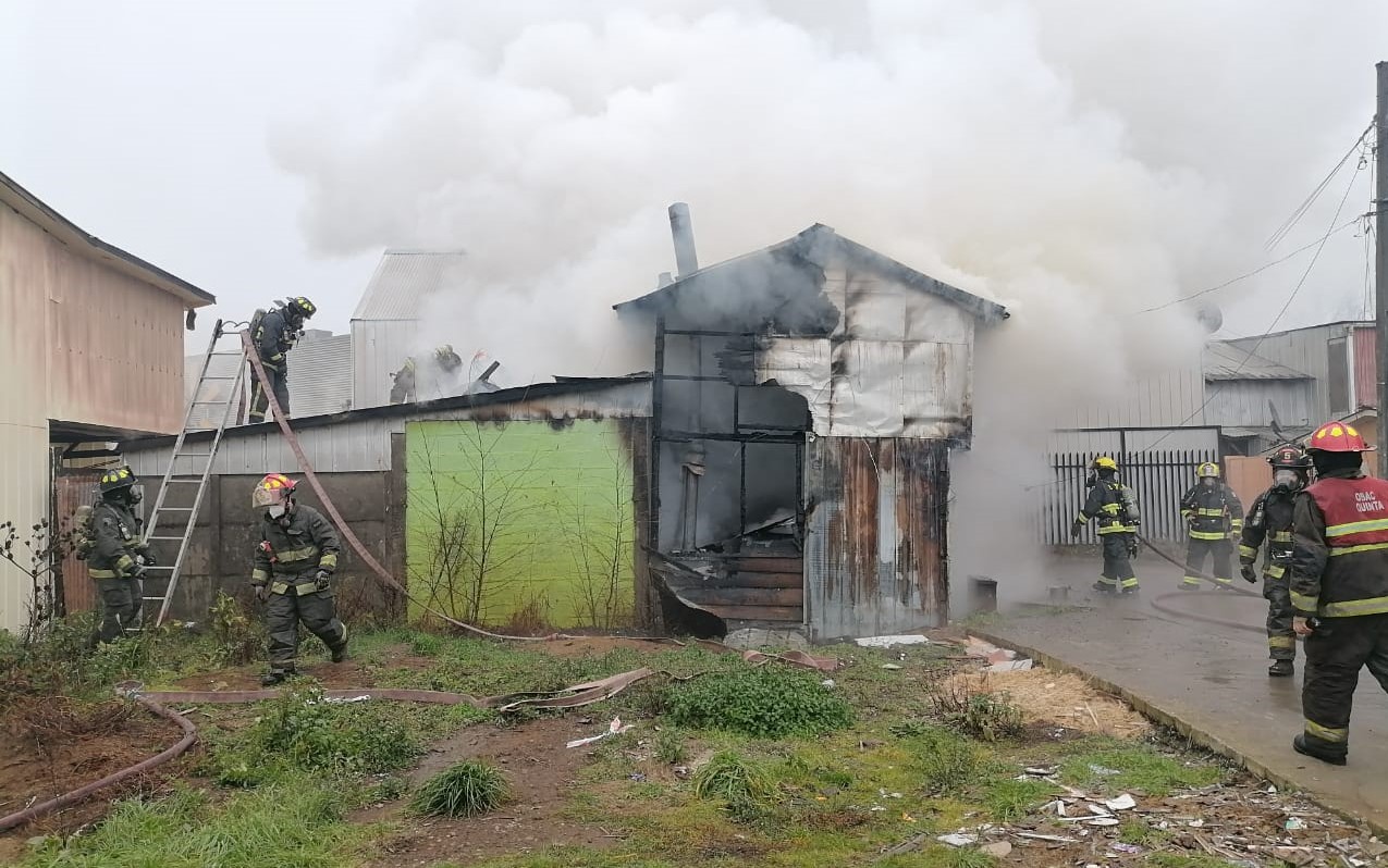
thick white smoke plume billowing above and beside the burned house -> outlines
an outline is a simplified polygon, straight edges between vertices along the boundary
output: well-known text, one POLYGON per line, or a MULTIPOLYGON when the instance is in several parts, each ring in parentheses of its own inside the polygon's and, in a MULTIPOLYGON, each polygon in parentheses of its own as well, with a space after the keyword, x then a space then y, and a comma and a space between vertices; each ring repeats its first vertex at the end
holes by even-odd
MULTIPOLYGON (((486 348, 512 381, 650 365, 609 305, 673 270, 672 201, 705 265, 823 222, 1008 305, 954 556, 956 575, 1016 571, 1044 431, 1199 352, 1188 309, 1134 312, 1269 258, 1367 122, 1384 32, 1369 0, 429 1, 379 89, 272 148, 318 250, 465 248, 421 347, 486 348)), ((1344 280, 1292 319, 1357 297, 1362 259, 1332 258, 1344 280)), ((1269 298, 1241 330, 1291 283, 1233 290, 1269 298)))

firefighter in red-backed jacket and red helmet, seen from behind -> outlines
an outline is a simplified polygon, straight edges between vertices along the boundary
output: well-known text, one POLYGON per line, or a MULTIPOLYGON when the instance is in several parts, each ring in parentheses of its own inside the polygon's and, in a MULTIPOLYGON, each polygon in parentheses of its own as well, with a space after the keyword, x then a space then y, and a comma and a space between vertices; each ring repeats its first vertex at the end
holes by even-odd
POLYGON ((1302 754, 1344 765, 1359 670, 1388 691, 1388 481, 1366 477, 1371 449, 1327 422, 1306 445, 1316 483, 1292 506, 1292 630, 1306 636, 1302 754))

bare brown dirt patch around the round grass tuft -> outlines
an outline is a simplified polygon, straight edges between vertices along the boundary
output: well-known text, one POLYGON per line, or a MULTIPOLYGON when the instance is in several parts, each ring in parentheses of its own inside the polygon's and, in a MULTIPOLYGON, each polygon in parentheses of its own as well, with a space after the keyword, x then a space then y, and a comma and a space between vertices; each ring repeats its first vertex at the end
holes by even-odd
MULTIPOLYGON (((566 749, 570 739, 601 731, 597 717, 544 718, 512 729, 468 729, 434 745, 411 782, 464 760, 487 760, 507 772, 512 799, 487 817, 426 821, 407 819, 411 828, 382 843, 368 864, 373 868, 432 865, 439 861, 471 861, 501 854, 527 853, 555 844, 601 847, 611 843, 601 828, 572 822, 561 814, 575 786, 577 770, 591 749, 566 749), (590 720, 580 724, 580 720, 590 720)), ((400 819, 405 800, 353 814, 355 822, 400 819)))

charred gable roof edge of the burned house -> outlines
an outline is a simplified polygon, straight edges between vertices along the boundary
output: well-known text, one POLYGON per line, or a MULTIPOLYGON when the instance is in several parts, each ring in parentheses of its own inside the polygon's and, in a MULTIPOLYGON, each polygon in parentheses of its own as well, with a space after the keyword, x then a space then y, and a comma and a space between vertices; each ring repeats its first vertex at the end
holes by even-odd
POLYGON ((691 275, 680 277, 679 280, 655 290, 654 293, 647 293, 640 298, 615 304, 612 305, 612 309, 658 312, 673 306, 675 300, 682 294, 701 288, 701 284, 709 280, 711 276, 726 275, 730 270, 750 266, 752 262, 761 262, 769 257, 790 255, 806 262, 823 262, 834 254, 843 257, 851 263, 876 270, 880 275, 913 290, 929 293, 944 298, 945 301, 954 302, 984 322, 998 322, 1010 316, 1008 309, 997 302, 966 293, 958 287, 952 287, 948 283, 936 280, 929 275, 923 275, 911 266, 897 262, 891 257, 879 254, 870 247, 859 244, 851 238, 845 238, 823 223, 815 223, 799 234, 786 238, 777 244, 772 244, 770 247, 763 247, 762 250, 743 254, 731 259, 725 259, 723 262, 709 265, 708 268, 701 268, 691 275))

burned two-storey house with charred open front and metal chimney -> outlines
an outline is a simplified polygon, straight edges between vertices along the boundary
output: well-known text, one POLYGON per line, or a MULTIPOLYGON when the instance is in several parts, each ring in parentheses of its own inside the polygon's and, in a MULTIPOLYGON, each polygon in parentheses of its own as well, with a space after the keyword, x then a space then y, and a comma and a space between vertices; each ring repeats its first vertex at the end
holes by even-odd
POLYGON ((942 624, 949 451, 990 301, 815 225, 616 305, 654 324, 647 559, 666 621, 813 641, 942 624))

